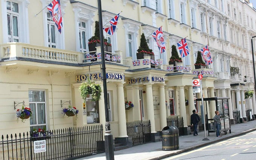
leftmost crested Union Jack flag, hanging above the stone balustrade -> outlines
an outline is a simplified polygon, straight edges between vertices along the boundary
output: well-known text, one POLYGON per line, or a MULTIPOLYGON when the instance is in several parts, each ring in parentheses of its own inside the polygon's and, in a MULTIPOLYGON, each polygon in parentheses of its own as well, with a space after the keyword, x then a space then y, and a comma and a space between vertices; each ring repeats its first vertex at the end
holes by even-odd
POLYGON ((52 16, 53 22, 55 22, 56 26, 58 27, 59 33, 61 33, 62 27, 62 14, 61 14, 61 4, 60 0, 53 0, 52 3, 47 6, 47 9, 52 16))

